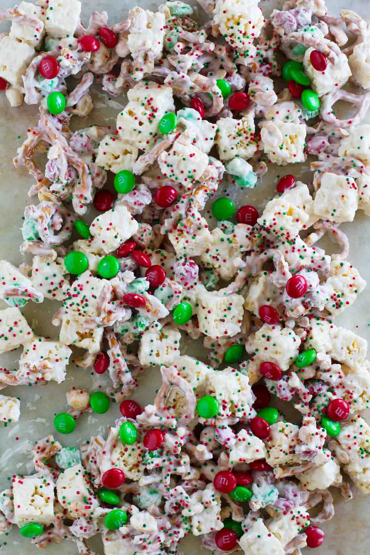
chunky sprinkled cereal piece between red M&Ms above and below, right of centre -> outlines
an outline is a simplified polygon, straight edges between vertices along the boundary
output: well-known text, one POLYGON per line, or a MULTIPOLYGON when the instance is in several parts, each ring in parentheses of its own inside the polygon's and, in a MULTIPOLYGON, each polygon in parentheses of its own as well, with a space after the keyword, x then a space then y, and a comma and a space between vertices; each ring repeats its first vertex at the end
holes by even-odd
POLYGON ((296 360, 300 345, 300 338, 290 328, 263 324, 254 337, 249 336, 245 349, 261 362, 273 362, 285 371, 296 360))

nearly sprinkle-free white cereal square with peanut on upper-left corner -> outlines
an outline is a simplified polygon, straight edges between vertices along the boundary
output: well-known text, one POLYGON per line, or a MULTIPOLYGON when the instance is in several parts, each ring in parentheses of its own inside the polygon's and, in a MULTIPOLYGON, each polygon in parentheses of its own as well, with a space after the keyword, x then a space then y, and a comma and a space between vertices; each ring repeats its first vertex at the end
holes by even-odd
POLYGON ((273 164, 285 166, 305 162, 306 125, 279 120, 264 122, 261 128, 261 147, 273 164))

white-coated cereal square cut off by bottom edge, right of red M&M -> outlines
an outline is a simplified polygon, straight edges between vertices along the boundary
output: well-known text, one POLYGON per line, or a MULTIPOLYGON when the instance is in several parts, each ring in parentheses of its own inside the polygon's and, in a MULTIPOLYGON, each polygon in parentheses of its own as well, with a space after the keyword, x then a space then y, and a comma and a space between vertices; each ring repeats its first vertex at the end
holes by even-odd
POLYGON ((254 521, 251 528, 242 535, 238 543, 244 549, 246 555, 262 555, 263 553, 284 555, 285 553, 280 541, 263 524, 262 518, 257 518, 254 521))

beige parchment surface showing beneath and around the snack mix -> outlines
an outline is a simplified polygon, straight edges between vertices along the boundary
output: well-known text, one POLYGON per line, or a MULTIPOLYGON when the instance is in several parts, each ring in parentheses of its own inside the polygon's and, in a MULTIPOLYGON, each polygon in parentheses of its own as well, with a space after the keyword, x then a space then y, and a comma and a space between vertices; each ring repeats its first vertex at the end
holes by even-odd
MULTIPOLYGON (((88 0, 83 3, 82 21, 86 25, 92 11, 105 9, 108 11, 110 23, 113 24, 122 21, 133 5, 134 0, 132 4, 127 0, 121 3, 112 0, 88 0)), ((157 4, 144 0, 139 5, 153 9, 157 4)), ((271 8, 281 7, 282 0, 262 0, 260 5, 268 14, 271 8)), ((0 8, 9 6, 13 6, 11 0, 0 0, 0 8)), ((369 0, 353 0, 351 3, 348 0, 347 2, 345 0, 327 0, 327 7, 331 15, 338 14, 339 9, 350 8, 357 11, 362 17, 370 16, 369 0)), ((8 28, 9 23, 0 23, 0 32, 7 31, 8 28)), ((73 129, 87 127, 90 123, 111 125, 115 129, 116 114, 120 106, 125 104, 125 97, 108 99, 107 94, 103 93, 101 88, 97 86, 94 91, 94 104, 95 109, 92 117, 85 120, 77 117, 72 119, 73 129)), ((37 204, 38 200, 37 198, 28 198, 27 191, 33 183, 33 179, 28 175, 26 169, 14 169, 12 158, 26 136, 26 129, 37 123, 37 108, 28 107, 27 105, 10 108, 4 93, 1 92, 0 114, 0 258, 5 258, 19 265, 23 261, 22 255, 19 254, 19 244, 22 241, 19 228, 22 225, 21 218, 24 206, 37 204)), ((367 120, 369 122, 370 118, 367 118, 367 120)), ((280 173, 293 173, 298 179, 310 183, 312 174, 308 171, 308 163, 299 166, 299 173, 297 173, 297 169, 298 166, 287 166, 283 172, 280 170, 280 173)), ((274 194, 278 173, 279 171, 274 171, 273 168, 270 169, 258 188, 252 192, 246 189, 244 193, 239 195, 237 206, 255 204, 257 208, 260 208, 265 204, 268 197, 274 194)), ((97 214, 94 209, 91 209, 85 219, 90 221, 95 215, 97 214)), ((370 220, 363 213, 358 212, 354 222, 342 225, 342 229, 349 236, 351 246, 349 260, 358 268, 363 278, 370 281, 370 220)), ((328 240, 325 247, 329 254, 336 249, 336 246, 330 240, 328 240)), ((351 328, 354 332, 369 340, 370 298, 367 291, 363 292, 356 304, 344 312, 341 317, 338 317, 336 323, 351 328)), ((30 302, 23 312, 38 335, 54 338, 58 335, 58 329, 52 326, 51 316, 58 306, 58 302, 50 300, 45 300, 40 306, 30 302)), ((5 308, 6 305, 0 301, 0 307, 5 308)), ((197 355, 197 349, 199 347, 196 345, 181 345, 182 354, 187 352, 205 361, 200 350, 197 355)), ((17 367, 19 351, 2 355, 0 366, 17 367)), ((88 370, 78 369, 74 364, 70 364, 68 378, 60 386, 55 382, 50 382, 45 387, 7 387, 1 391, 5 395, 20 398, 21 418, 16 424, 0 428, 0 491, 9 487, 7 478, 12 473, 26 474, 33 472, 32 464, 29 462, 29 451, 34 441, 54 432, 52 425, 54 414, 65 411, 67 407, 65 392, 72 386, 95 390, 99 384, 104 384, 104 377, 98 377, 88 370)), ((142 375, 139 388, 134 393, 133 398, 141 405, 152 402, 159 384, 158 369, 148 369, 142 375)), ((63 436, 55 433, 55 437, 64 446, 79 445, 80 442, 88 439, 92 434, 102 433, 106 435, 109 425, 119 416, 118 405, 111 405, 110 410, 105 415, 84 415, 80 418, 73 434, 63 436)), ((362 496, 356 488, 353 491, 354 499, 349 503, 344 503, 334 492, 337 499, 336 514, 331 522, 323 525, 326 540, 323 546, 316 550, 317 555, 351 555, 352 553, 366 553, 368 551, 370 498, 362 496)), ((89 543, 99 555, 103 554, 100 539, 89 541, 89 543)), ((53 555, 77 553, 75 544, 67 541, 59 545, 52 544, 47 549, 53 555)), ((179 553, 194 553, 199 549, 200 542, 196 538, 185 538, 180 543, 179 553)), ((308 552, 309 549, 306 548, 305 551, 308 552)), ((9 536, 0 536, 0 555, 14 555, 16 553, 17 555, 26 555, 26 553, 33 555, 39 553, 39 550, 32 546, 29 540, 22 538, 18 528, 14 526, 9 536)))

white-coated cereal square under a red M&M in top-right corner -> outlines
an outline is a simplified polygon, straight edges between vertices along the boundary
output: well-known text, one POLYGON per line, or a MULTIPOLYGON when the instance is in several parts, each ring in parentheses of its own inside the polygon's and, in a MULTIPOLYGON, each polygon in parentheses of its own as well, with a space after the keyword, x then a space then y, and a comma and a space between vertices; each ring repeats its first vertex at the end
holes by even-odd
MULTIPOLYGON (((330 47, 330 42, 328 42, 330 47)), ((330 93, 333 89, 340 89, 351 77, 351 69, 348 65, 346 54, 339 54, 336 63, 328 59, 328 65, 324 72, 315 69, 311 63, 310 55, 315 48, 307 48, 303 58, 303 66, 308 77, 311 79, 311 88, 315 90, 319 97, 330 93)))

